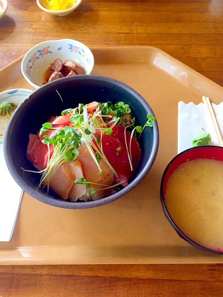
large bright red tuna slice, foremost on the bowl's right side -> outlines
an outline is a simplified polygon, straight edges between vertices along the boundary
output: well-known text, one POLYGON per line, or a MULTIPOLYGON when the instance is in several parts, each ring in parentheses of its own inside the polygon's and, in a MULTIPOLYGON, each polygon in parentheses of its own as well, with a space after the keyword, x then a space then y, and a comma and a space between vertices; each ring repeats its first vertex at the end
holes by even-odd
MULTIPOLYGON (((95 136, 98 136, 100 139, 100 132, 96 131, 95 136)), ((102 136, 102 147, 108 162, 112 165, 112 167, 118 174, 118 177, 115 177, 116 182, 124 182, 122 183, 122 185, 124 187, 127 186, 131 169, 128 154, 125 150, 125 147, 117 138, 106 134, 102 136)))

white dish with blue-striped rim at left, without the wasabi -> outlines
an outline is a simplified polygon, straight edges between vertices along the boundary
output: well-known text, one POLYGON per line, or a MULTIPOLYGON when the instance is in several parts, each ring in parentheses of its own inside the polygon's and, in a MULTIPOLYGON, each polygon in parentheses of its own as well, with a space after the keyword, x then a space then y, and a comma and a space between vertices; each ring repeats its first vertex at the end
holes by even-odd
MULTIPOLYGON (((11 89, 11 90, 4 91, 0 93, 0 105, 4 101, 12 102, 16 105, 19 105, 32 92, 33 91, 28 89, 11 89)), ((0 142, 3 142, 4 140, 4 134, 5 134, 8 121, 9 121, 9 118, 0 116, 0 142)))

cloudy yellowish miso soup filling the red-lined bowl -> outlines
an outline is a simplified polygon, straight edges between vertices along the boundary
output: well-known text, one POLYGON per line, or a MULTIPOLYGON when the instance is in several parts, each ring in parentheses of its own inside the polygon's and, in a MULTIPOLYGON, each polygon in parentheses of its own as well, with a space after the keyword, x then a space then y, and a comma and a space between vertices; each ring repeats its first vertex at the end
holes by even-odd
POLYGON ((169 177, 165 203, 180 230, 200 245, 223 250, 223 162, 197 159, 169 177))

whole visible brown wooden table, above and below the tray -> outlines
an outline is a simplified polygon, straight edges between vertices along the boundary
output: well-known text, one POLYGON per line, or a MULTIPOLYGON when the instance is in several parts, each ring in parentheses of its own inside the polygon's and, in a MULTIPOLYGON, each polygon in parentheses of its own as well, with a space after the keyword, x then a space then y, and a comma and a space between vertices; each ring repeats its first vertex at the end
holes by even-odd
MULTIPOLYGON (((66 17, 9 0, 0 68, 39 42, 152 45, 223 85, 223 0, 83 0, 66 17)), ((1 266, 0 296, 222 296, 223 265, 1 266)))

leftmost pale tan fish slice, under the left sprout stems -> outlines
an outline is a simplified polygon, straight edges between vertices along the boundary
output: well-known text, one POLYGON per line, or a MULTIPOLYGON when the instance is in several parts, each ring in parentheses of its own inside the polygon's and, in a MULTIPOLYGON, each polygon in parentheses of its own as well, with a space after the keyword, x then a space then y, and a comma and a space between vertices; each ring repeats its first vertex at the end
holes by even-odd
POLYGON ((67 199, 68 193, 73 186, 74 178, 74 173, 68 162, 63 162, 50 181, 50 189, 61 198, 67 199))

